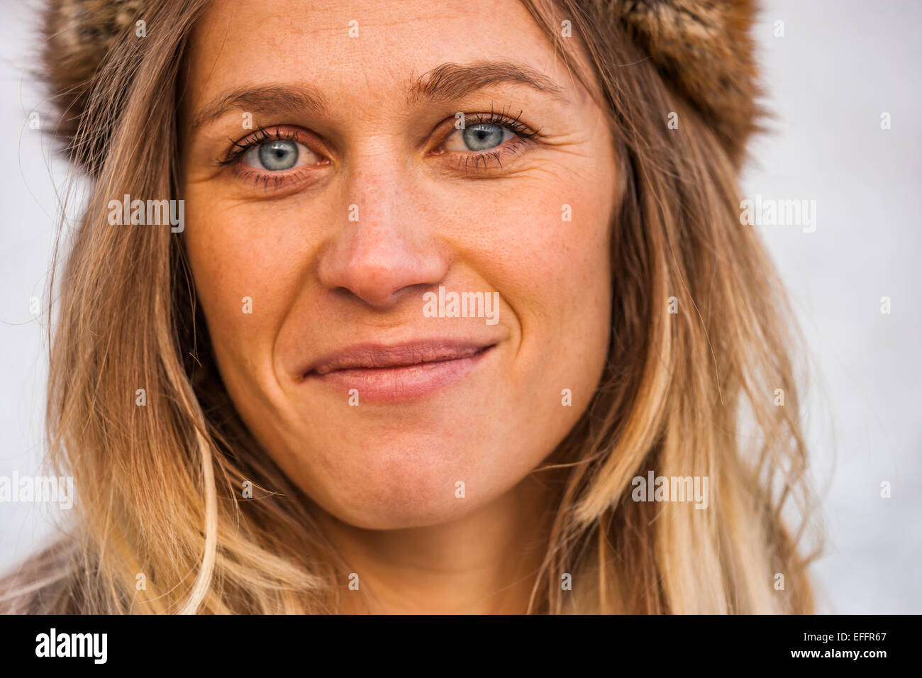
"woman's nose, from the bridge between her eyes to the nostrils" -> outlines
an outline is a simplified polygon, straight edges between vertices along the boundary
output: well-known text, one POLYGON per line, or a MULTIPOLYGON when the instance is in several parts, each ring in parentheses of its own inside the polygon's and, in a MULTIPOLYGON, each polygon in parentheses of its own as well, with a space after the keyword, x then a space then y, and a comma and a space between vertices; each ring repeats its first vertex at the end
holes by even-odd
POLYGON ((341 226, 321 253, 318 276, 331 290, 387 308, 443 280, 444 244, 425 196, 391 154, 363 158, 344 176, 341 226))

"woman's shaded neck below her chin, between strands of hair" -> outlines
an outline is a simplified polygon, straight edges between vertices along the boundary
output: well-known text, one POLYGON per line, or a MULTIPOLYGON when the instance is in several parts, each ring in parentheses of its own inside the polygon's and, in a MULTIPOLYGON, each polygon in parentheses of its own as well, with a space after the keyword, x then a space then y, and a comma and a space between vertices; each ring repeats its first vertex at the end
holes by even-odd
POLYGON ((326 538, 359 574, 342 583, 342 613, 519 614, 547 553, 548 476, 527 477, 467 516, 441 525, 361 529, 314 506, 326 538))

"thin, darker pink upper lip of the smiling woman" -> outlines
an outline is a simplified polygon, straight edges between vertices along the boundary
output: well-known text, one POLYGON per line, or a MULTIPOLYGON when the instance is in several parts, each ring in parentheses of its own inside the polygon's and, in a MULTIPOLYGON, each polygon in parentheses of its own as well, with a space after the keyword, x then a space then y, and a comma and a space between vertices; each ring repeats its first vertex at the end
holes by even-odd
POLYGON ((301 376, 327 375, 336 370, 374 367, 406 367, 469 358, 496 344, 495 341, 427 339, 400 344, 353 344, 321 356, 301 371, 301 376))

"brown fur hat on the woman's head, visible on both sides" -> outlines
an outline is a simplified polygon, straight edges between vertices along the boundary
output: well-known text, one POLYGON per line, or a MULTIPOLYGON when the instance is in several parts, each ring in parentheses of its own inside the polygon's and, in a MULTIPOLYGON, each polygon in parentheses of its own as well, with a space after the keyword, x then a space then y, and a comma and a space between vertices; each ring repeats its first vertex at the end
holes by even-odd
MULTIPOLYGON (((597 1, 615 13, 739 164, 760 113, 749 35, 757 0, 597 1)), ((145 0, 48 0, 42 63, 61 112, 57 134, 68 148, 94 74, 112 44, 134 30, 145 6, 145 0)))

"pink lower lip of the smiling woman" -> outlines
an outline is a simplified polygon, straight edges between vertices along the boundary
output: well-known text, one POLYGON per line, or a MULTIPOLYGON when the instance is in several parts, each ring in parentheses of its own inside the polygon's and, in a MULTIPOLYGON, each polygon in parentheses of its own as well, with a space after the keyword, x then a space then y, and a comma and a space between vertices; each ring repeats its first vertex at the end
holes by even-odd
POLYGON ((484 349, 467 358, 401 367, 358 367, 325 375, 308 375, 305 381, 319 381, 349 394, 359 391, 359 402, 400 402, 424 398, 460 381, 492 351, 484 349))

